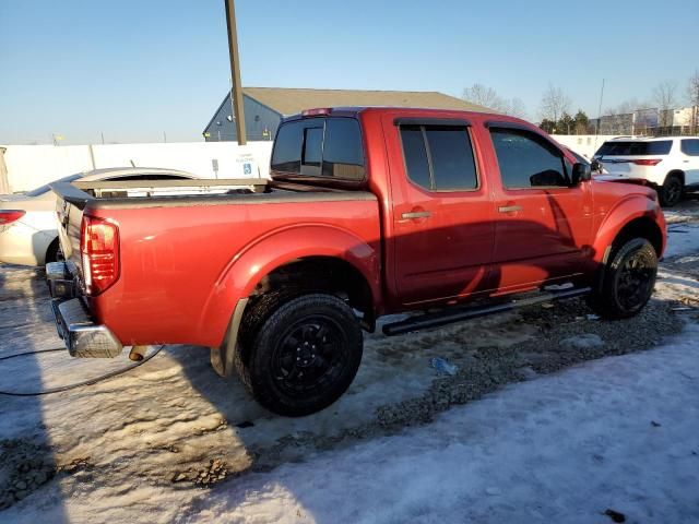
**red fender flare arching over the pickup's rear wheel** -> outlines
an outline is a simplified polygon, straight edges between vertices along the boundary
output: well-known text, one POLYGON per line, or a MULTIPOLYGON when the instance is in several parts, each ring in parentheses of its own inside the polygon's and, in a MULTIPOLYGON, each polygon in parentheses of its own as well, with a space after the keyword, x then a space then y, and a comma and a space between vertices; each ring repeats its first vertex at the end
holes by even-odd
POLYGON ((380 297, 380 239, 372 242, 327 224, 301 224, 276 229, 242 248, 224 267, 199 318, 206 338, 224 341, 238 301, 277 267, 307 257, 330 257, 348 262, 367 282, 376 303, 380 297), (371 245, 376 242, 375 245, 371 245))

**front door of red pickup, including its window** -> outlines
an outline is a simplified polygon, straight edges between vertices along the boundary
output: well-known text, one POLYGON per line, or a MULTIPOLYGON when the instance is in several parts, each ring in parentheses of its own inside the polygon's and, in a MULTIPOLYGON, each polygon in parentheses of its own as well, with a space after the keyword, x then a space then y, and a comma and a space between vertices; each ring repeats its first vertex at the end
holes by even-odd
POLYGON ((497 122, 488 130, 500 175, 494 188, 497 286, 529 289, 579 274, 592 249, 590 183, 571 186, 572 164, 537 132, 497 122))

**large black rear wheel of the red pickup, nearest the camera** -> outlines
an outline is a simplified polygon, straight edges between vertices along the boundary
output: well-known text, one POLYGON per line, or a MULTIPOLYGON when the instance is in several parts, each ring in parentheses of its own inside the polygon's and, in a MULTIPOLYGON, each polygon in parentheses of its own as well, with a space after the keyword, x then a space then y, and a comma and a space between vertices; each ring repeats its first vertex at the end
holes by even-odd
MULTIPOLYGON (((256 401, 284 416, 319 412, 354 380, 362 361, 362 329, 352 308, 332 295, 292 298, 258 323, 237 358, 256 401)), ((252 314, 259 318, 260 314, 252 314)))

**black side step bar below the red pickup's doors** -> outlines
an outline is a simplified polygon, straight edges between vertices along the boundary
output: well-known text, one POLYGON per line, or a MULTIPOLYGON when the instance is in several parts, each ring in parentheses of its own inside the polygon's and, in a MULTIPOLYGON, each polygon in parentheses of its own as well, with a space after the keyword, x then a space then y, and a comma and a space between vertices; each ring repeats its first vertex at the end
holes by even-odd
POLYGON ((562 289, 560 291, 544 291, 534 297, 520 298, 510 300, 505 303, 482 307, 454 306, 436 313, 425 313, 410 319, 393 322, 383 326, 383 334, 388 336, 402 335, 411 331, 426 330, 430 327, 440 327, 442 325, 460 322, 462 320, 477 319, 494 313, 502 313, 511 311, 524 306, 534 303, 548 302, 552 300, 561 300, 564 298, 574 298, 588 295, 592 290, 591 287, 578 287, 572 289, 562 289))

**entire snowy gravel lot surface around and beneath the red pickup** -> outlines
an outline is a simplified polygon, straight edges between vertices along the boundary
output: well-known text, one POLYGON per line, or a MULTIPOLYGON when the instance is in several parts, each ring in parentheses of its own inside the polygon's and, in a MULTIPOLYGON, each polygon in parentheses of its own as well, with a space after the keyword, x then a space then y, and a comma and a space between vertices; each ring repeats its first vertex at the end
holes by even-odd
MULTIPOLYGON (((699 318, 672 310, 699 306, 695 204, 673 212, 640 317, 585 320, 573 301, 367 335, 348 393, 310 417, 269 414, 190 346, 86 389, 0 396, 0 523, 604 523, 607 508, 627 522, 699 522, 699 318), (648 347, 680 317, 686 331, 661 348, 537 374, 648 347), (560 345, 592 337, 603 345, 560 345), (459 365, 457 381, 435 378, 435 356, 459 365), (521 377, 532 380, 496 391, 521 377), (22 495, 5 510, 3 486, 22 495)), ((59 345, 42 275, 0 267, 0 357, 59 345)), ((123 357, 0 361, 0 390, 84 380, 123 357)))

